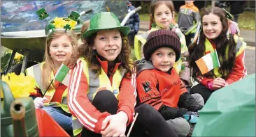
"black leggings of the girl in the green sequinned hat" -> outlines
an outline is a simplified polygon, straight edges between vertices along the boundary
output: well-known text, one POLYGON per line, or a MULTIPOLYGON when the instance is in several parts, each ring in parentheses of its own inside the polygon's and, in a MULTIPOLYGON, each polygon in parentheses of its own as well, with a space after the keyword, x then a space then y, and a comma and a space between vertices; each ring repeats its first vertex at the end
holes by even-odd
MULTIPOLYGON (((109 90, 101 90, 95 95, 92 104, 101 112, 107 111, 108 113, 116 114, 118 111, 118 99, 115 98, 113 92, 109 90)), ((167 124, 162 118, 162 115, 152 106, 142 104, 135 108, 138 113, 134 127, 131 129, 130 136, 145 136, 148 132, 150 136, 163 136, 163 137, 178 137, 174 129, 167 124)), ((130 125, 127 127, 125 135, 129 131, 130 125)), ((83 129, 81 137, 101 137, 101 134, 96 134, 86 128, 83 129)))

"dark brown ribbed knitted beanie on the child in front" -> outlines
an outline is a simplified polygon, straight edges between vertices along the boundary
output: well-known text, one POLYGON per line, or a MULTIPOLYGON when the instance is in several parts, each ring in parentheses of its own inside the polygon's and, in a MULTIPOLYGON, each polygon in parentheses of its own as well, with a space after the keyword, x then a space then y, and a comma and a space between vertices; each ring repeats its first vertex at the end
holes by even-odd
POLYGON ((149 61, 154 51, 160 47, 170 47, 176 53, 176 61, 180 58, 180 38, 175 32, 166 29, 152 31, 143 46, 145 60, 149 61))

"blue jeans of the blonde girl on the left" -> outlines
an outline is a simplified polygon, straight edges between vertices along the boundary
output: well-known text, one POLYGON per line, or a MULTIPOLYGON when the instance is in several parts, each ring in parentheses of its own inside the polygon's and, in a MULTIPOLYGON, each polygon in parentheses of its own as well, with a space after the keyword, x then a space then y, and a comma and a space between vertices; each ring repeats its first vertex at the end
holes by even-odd
POLYGON ((64 130, 72 130, 71 114, 66 113, 61 107, 43 106, 46 111, 64 130))

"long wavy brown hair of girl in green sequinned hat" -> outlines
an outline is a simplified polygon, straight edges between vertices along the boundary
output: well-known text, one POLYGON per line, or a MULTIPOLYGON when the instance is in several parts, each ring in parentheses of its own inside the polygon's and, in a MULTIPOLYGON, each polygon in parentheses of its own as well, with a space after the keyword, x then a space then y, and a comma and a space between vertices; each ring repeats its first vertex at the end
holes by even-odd
MULTIPOLYGON (((118 67, 118 69, 123 68, 127 70, 126 74, 129 74, 129 76, 131 76, 131 66, 133 65, 133 63, 129 59, 131 53, 129 40, 127 36, 125 37, 124 35, 122 35, 122 32, 120 33, 122 38, 122 49, 115 61, 121 62, 121 65, 118 67)), ((97 33, 94 33, 94 35, 90 36, 90 38, 87 38, 85 45, 79 47, 76 58, 80 56, 85 58, 92 72, 95 72, 99 76, 99 74, 101 74, 101 65, 99 64, 99 61, 96 57, 97 51, 94 51, 94 49, 92 49, 96 35, 97 33)))

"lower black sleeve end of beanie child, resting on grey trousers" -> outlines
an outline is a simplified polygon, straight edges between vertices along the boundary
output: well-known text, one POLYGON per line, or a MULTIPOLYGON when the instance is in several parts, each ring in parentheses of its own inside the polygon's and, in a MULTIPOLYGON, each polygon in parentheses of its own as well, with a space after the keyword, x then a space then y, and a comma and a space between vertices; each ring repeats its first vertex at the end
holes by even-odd
POLYGON ((184 118, 184 114, 187 112, 186 108, 172 108, 170 106, 162 105, 159 108, 159 113, 161 113, 164 120, 170 120, 174 118, 184 118))

